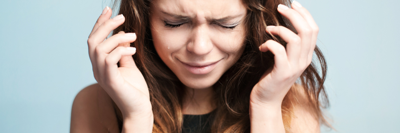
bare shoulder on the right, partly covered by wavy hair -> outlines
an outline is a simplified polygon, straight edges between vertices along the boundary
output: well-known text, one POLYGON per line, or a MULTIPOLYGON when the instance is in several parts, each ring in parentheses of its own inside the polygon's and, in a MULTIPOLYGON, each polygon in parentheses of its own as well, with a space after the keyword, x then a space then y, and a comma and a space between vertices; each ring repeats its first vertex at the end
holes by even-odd
POLYGON ((294 88, 293 117, 290 127, 293 133, 320 133, 320 123, 313 105, 301 86, 294 88))

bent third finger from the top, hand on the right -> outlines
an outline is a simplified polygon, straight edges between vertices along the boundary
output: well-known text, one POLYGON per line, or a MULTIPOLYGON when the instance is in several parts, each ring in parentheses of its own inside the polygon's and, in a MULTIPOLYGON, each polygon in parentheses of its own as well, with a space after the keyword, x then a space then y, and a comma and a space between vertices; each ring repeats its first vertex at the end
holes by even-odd
POLYGON ((286 43, 288 43, 286 45, 288 61, 297 64, 301 49, 300 37, 290 29, 283 26, 267 26, 266 30, 272 35, 279 35, 286 43))

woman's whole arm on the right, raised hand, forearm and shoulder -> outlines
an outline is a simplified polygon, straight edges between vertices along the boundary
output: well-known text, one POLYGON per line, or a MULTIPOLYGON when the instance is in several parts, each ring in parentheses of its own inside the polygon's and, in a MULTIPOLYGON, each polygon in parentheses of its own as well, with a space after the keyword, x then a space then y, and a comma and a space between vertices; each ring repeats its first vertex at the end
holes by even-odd
MULTIPOLYGON (((278 6, 278 12, 288 18, 297 34, 282 26, 268 26, 267 32, 279 35, 286 43, 268 40, 260 46, 260 51, 271 51, 275 56, 274 67, 264 73, 250 94, 250 129, 252 133, 284 133, 282 120, 282 101, 288 90, 310 65, 316 45, 318 26, 310 13, 298 2, 292 3, 292 9, 284 5, 278 6)), ((308 102, 308 101, 307 101, 308 102)), ((294 106, 294 129, 303 132, 300 119, 312 122, 310 133, 319 132, 318 119, 310 117, 312 112, 306 108, 294 106), (303 114, 303 115, 302 115, 303 114), (304 115, 306 114, 306 115, 304 115), (315 130, 314 127, 318 127, 315 130)), ((307 128, 309 129, 309 128, 307 128)))

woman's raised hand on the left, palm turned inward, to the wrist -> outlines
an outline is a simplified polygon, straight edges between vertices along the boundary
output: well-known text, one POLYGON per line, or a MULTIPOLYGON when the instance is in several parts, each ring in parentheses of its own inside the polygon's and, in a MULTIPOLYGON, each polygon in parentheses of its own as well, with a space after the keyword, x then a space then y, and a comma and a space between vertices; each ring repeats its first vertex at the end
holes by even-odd
POLYGON ((110 19, 111 15, 111 9, 106 7, 89 35, 94 78, 114 100, 124 119, 142 115, 152 117, 148 86, 132 58, 136 48, 130 47, 130 43, 136 40, 136 34, 122 31, 106 39, 125 21, 122 14, 110 19))

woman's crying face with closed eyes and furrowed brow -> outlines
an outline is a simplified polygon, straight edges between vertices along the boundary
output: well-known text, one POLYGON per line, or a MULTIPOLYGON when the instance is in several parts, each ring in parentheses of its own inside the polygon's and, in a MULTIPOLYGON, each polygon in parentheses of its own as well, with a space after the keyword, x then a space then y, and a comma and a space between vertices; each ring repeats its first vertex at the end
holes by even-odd
POLYGON ((189 88, 208 88, 244 50, 246 8, 241 0, 154 0, 154 47, 189 88))

